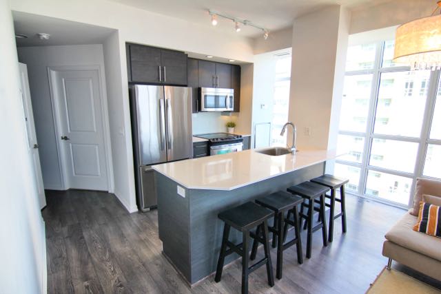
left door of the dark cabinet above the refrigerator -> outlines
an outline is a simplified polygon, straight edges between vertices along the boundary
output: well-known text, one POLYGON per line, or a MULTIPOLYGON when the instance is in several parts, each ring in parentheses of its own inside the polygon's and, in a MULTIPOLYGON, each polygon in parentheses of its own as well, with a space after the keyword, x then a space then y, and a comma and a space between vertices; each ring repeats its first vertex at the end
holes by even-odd
POLYGON ((143 83, 160 83, 161 49, 143 45, 130 44, 130 81, 143 83))

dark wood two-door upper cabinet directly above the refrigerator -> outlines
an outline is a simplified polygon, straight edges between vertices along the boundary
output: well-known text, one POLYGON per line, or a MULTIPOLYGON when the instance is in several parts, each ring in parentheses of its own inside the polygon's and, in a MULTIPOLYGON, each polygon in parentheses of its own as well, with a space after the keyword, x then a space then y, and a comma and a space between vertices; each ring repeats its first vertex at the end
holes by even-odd
POLYGON ((130 82, 187 85, 187 54, 131 43, 126 48, 130 82))

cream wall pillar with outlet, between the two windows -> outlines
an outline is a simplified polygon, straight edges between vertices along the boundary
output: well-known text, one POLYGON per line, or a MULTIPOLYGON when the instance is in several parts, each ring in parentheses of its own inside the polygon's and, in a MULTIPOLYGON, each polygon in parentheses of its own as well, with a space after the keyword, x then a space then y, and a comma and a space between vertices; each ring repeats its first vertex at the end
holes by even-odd
POLYGON ((338 50, 346 52, 348 22, 349 16, 340 6, 294 20, 289 120, 298 128, 299 149, 328 148, 329 132, 334 128, 331 116, 338 117, 335 107, 342 96, 345 55, 338 50), (310 136, 305 135, 305 127, 311 127, 310 136))

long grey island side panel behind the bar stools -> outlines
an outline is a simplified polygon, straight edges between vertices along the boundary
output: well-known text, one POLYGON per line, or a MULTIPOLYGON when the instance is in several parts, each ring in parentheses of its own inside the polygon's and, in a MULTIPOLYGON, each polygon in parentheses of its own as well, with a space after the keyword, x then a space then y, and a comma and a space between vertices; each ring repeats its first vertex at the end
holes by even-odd
MULTIPOLYGON (((220 211, 236 207, 247 201, 254 201, 275 191, 286 191, 287 187, 291 185, 298 185, 300 182, 321 176, 324 169, 325 162, 322 162, 232 191, 188 189, 192 267, 191 281, 189 282, 194 284, 216 271, 223 234, 223 222, 217 217, 220 211)), ((238 244, 242 242, 242 235, 232 229, 230 240, 238 244)), ((229 255, 225 259, 225 264, 237 258, 236 253, 229 255)))

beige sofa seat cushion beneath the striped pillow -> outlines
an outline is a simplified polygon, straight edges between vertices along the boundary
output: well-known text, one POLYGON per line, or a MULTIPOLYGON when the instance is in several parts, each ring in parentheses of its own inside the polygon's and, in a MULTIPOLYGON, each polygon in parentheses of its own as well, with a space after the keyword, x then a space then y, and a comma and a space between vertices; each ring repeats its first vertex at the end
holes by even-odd
POLYGON ((404 214, 384 237, 404 248, 441 261, 441 239, 413 231, 417 220, 410 213, 404 214))

